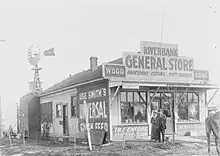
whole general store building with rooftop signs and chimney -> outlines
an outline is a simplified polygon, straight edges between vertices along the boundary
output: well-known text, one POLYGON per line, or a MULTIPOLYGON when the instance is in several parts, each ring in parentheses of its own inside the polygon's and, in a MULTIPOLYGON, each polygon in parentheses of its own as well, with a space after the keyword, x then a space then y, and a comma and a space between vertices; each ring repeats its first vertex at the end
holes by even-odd
POLYGON ((165 111, 167 134, 204 133, 211 89, 216 93, 218 86, 210 83, 208 71, 194 69, 193 58, 179 56, 177 45, 143 41, 140 52, 123 53, 99 66, 91 57, 90 69, 39 97, 41 110, 47 110, 42 114, 50 112, 51 136, 83 132, 86 105, 90 128, 104 130, 106 140, 118 141, 149 138, 154 109, 165 111))

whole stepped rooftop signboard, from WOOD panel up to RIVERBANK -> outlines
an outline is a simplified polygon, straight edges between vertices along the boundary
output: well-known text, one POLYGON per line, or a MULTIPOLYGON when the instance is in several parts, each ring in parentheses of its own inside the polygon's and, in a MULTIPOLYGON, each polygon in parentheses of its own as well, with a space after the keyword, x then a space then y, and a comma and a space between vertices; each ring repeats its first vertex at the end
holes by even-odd
MULTIPOLYGON (((155 42, 141 42, 141 52, 124 52, 123 64, 103 64, 105 78, 149 82, 191 83, 195 80, 192 57, 178 56, 178 46, 155 42)), ((202 75, 208 71, 199 70, 202 75)), ((203 80, 201 78, 201 80, 203 80)), ((207 81, 207 77, 204 81, 207 81)))

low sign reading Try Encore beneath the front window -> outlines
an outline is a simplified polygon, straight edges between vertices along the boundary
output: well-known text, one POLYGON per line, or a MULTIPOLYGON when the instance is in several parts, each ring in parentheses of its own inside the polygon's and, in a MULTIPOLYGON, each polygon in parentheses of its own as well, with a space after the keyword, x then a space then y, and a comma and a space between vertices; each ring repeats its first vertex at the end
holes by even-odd
POLYGON ((113 140, 137 140, 147 139, 149 135, 148 125, 113 125, 113 140))

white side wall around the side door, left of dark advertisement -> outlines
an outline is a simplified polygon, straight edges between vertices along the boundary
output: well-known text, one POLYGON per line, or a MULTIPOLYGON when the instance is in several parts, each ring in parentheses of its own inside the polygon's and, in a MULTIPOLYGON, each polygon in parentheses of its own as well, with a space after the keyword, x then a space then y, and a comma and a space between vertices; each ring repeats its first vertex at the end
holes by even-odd
POLYGON ((59 125, 59 121, 63 121, 63 118, 56 117, 56 104, 67 104, 68 109, 68 131, 69 135, 72 136, 78 132, 78 118, 71 117, 71 96, 76 95, 76 89, 68 90, 62 93, 49 95, 40 98, 40 103, 52 102, 53 110, 53 125, 51 128, 52 136, 62 136, 63 135, 63 126, 59 125))

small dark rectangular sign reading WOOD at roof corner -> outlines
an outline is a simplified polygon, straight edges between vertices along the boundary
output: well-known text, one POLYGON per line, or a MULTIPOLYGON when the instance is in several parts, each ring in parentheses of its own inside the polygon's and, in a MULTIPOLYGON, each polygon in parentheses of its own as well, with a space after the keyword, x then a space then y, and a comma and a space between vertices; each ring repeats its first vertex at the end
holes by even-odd
POLYGON ((103 77, 122 77, 126 75, 125 66, 120 64, 103 64, 102 65, 103 77))

